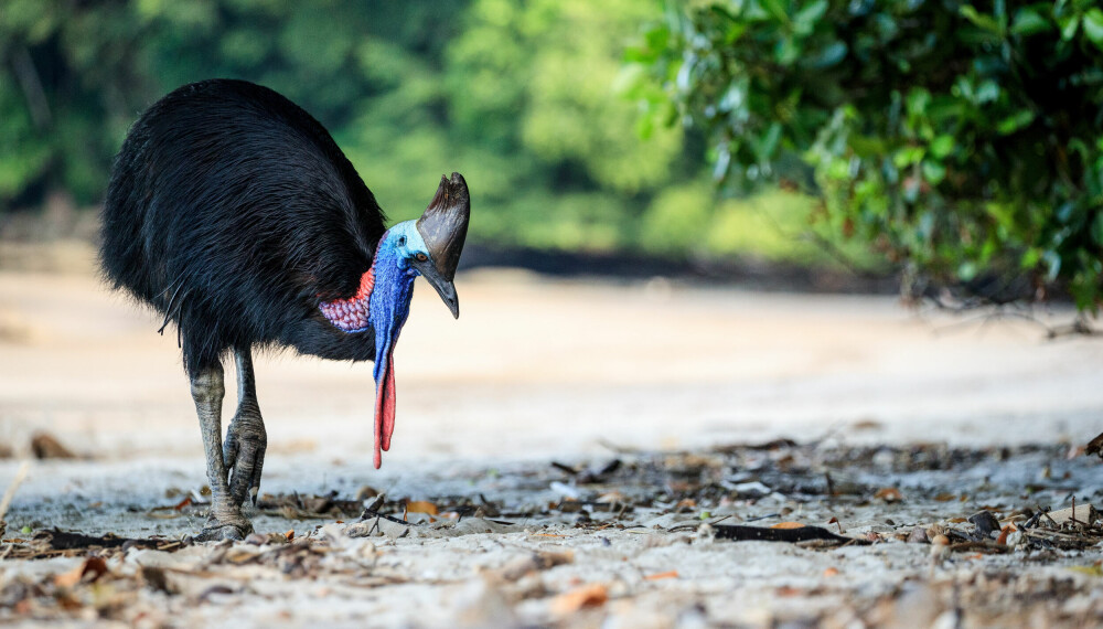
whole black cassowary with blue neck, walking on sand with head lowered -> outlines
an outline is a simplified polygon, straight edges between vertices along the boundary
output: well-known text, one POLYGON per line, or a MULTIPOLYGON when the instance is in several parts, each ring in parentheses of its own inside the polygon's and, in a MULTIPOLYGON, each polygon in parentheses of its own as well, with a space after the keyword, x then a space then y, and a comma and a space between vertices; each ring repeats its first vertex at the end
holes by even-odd
POLYGON ((104 204, 107 281, 175 323, 211 482, 201 539, 240 539, 256 503, 267 434, 253 350, 292 348, 375 362, 375 467, 390 446, 394 350, 414 279, 454 317, 452 284, 470 201, 441 178, 420 218, 384 227, 375 196, 325 128, 244 81, 185 85, 122 143, 104 204), (222 438, 222 359, 237 362, 238 406, 222 438))

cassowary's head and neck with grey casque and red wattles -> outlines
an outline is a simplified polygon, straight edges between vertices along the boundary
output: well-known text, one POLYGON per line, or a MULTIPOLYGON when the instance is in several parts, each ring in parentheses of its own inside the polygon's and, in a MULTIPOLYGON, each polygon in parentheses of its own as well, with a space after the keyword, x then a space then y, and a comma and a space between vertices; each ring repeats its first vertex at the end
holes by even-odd
POLYGON ((383 235, 372 268, 350 299, 321 303, 322 313, 350 333, 375 332, 375 467, 390 449, 395 429, 394 351, 409 314, 414 280, 422 276, 459 318, 456 267, 468 234, 471 201, 463 178, 441 178, 437 194, 417 221, 404 221, 383 235))

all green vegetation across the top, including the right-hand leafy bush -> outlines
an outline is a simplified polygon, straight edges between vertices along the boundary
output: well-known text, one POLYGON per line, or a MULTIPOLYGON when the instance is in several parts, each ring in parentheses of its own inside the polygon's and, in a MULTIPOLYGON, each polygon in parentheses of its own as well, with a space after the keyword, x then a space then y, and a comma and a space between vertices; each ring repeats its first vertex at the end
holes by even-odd
POLYGON ((392 220, 463 172, 484 245, 1103 295, 1091 0, 4 0, 0 212, 94 206, 214 76, 313 114, 392 220))

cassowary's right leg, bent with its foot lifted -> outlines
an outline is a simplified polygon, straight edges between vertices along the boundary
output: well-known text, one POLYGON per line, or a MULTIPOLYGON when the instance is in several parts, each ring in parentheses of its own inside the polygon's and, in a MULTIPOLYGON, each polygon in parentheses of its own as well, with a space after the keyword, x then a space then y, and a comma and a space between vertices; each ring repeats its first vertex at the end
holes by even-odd
POLYGON ((234 504, 242 504, 246 498, 257 503, 260 490, 260 471, 265 466, 265 450, 268 434, 257 404, 257 386, 253 376, 253 351, 249 348, 234 350, 237 359, 237 413, 226 430, 224 460, 227 470, 233 470, 229 480, 229 495, 234 504))

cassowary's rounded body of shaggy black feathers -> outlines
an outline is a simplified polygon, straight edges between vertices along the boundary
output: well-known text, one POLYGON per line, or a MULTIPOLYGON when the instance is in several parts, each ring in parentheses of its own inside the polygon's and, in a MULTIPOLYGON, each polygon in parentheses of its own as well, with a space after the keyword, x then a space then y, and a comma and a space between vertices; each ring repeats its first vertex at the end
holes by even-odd
POLYGON ((338 330, 318 305, 356 292, 384 221, 309 114, 266 87, 204 81, 130 129, 100 262, 115 288, 175 322, 190 373, 235 347, 372 360, 374 333, 338 330))

